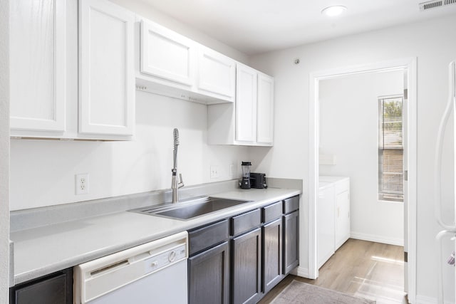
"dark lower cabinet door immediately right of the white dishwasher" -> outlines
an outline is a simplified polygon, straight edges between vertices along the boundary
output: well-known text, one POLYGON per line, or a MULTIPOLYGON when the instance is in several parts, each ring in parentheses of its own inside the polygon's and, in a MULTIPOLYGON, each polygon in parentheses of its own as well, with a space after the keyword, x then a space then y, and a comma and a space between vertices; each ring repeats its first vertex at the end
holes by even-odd
POLYGON ((228 303, 228 242, 189 258, 189 303, 228 303))

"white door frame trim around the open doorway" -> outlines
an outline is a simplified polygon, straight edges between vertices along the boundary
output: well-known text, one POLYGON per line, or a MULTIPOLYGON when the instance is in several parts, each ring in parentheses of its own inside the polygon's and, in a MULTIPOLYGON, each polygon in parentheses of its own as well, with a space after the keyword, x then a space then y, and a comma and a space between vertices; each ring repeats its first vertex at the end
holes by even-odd
MULTIPOLYGON (((356 78, 363 75, 380 75, 383 73, 403 73, 404 90, 403 104, 404 112, 404 135, 405 150, 403 170, 406 174, 404 178, 404 203, 400 206, 403 208, 403 246, 404 246, 404 275, 405 275, 405 291, 409 294, 409 300, 415 298, 415 239, 416 231, 416 59, 405 59, 398 61, 388 61, 383 63, 374 63, 361 65, 356 67, 339 68, 335 70, 326 70, 310 75, 310 115, 309 115, 309 276, 311 278, 318 277, 317 263, 317 229, 316 229, 316 204, 318 200, 318 176, 319 176, 319 154, 321 152, 322 142, 324 137, 320 138, 321 120, 320 120, 320 88, 325 83, 331 80, 341 78, 356 78)), ((385 75, 385 74, 383 74, 385 75)), ((360 89, 361 90, 361 89, 360 89)), ((384 99, 385 96, 379 96, 384 99)), ((395 96, 397 97, 397 96, 395 96)), ((348 109, 350 110, 350 109, 348 109)), ((356 110, 356 109, 355 109, 356 110)), ((340 111, 339 111, 340 112, 340 111)), ((340 113, 336 113, 340 114, 340 113)), ((339 119, 341 117, 338 117, 339 119)), ((353 117, 352 117, 353 118, 353 117)), ((375 118, 374 118, 375 120, 375 118)), ((375 124, 377 120, 375 120, 375 124)), ((323 134, 323 136, 325 136, 323 134)), ((376 139, 375 139, 376 140, 376 139)), ((331 150, 331 149, 329 149, 331 150)), ((325 157, 328 158, 328 157, 325 157)), ((329 157, 331 158, 331 157, 329 157)), ((375 162, 374 162, 375 165, 375 162)), ((375 168, 376 169, 376 168, 375 168)), ((325 174, 331 172, 331 169, 325 168, 325 174)), ((377 178, 376 176, 374 177, 377 178)), ((395 206, 397 208, 398 206, 395 206)), ((379 240, 380 241, 380 240, 379 240)))

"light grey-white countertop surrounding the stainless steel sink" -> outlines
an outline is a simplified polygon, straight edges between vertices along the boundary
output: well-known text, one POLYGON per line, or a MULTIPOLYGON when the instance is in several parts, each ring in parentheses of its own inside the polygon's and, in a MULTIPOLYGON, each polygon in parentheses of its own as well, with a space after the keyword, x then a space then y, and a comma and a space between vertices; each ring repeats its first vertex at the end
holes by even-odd
POLYGON ((14 242, 14 282, 22 283, 298 194, 301 191, 294 189, 237 189, 211 196, 244 199, 252 203, 188 221, 122 211, 16 231, 11 233, 14 242))

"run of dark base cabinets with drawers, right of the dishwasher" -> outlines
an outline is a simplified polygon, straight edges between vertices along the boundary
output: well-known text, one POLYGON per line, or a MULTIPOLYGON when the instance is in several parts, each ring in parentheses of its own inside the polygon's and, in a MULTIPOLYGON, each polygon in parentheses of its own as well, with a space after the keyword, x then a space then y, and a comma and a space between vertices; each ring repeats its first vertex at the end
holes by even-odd
POLYGON ((190 304, 257 303, 299 264, 299 196, 192 229, 189 247, 190 304))

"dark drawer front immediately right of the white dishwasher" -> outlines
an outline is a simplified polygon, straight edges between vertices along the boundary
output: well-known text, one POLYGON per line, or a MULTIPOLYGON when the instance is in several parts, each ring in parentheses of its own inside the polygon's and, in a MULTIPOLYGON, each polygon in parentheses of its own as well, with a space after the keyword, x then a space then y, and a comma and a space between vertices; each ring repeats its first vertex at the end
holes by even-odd
POLYGON ((188 231, 190 256, 228 239, 228 220, 188 231))

